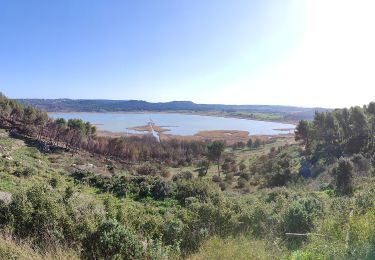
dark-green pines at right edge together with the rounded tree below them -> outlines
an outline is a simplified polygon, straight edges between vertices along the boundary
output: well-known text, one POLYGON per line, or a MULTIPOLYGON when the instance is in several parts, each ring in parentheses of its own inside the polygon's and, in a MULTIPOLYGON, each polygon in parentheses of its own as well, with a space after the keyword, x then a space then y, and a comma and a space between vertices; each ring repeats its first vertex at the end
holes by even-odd
POLYGON ((352 178, 375 168, 375 102, 367 106, 315 114, 300 121, 295 139, 305 146, 305 157, 318 175, 329 165, 333 185, 340 194, 352 194, 352 178))

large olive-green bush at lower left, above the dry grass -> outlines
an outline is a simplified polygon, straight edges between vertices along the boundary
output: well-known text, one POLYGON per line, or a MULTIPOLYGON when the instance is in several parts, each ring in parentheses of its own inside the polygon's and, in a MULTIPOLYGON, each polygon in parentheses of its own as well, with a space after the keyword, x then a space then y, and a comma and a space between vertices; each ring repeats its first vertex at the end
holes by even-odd
POLYGON ((65 199, 49 186, 35 186, 14 194, 12 202, 2 206, 0 215, 6 220, 2 224, 19 238, 32 239, 42 247, 68 242, 74 246, 101 217, 90 207, 73 203, 71 197, 65 199), (80 210, 72 211, 73 208, 80 210))

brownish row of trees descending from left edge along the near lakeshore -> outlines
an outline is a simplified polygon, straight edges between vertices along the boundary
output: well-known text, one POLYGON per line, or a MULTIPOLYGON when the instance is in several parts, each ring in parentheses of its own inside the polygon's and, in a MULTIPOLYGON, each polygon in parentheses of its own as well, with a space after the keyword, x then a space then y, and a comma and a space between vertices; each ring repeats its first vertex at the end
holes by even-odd
POLYGON ((51 119, 47 113, 20 104, 0 94, 0 127, 36 138, 43 144, 76 152, 91 153, 126 161, 162 161, 167 164, 190 164, 206 152, 203 142, 170 140, 159 143, 152 136, 100 137, 96 127, 80 119, 51 119))

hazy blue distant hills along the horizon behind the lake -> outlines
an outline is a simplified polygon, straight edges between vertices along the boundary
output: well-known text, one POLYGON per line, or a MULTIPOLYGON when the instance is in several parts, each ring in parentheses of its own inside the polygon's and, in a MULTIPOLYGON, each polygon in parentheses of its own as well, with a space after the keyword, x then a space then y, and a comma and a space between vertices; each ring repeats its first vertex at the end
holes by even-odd
POLYGON ((325 108, 305 108, 274 105, 221 105, 196 104, 191 101, 151 103, 143 100, 101 100, 101 99, 18 99, 21 103, 35 106, 46 112, 129 112, 129 111, 192 111, 227 113, 277 114, 286 120, 312 119, 315 111, 325 108))

